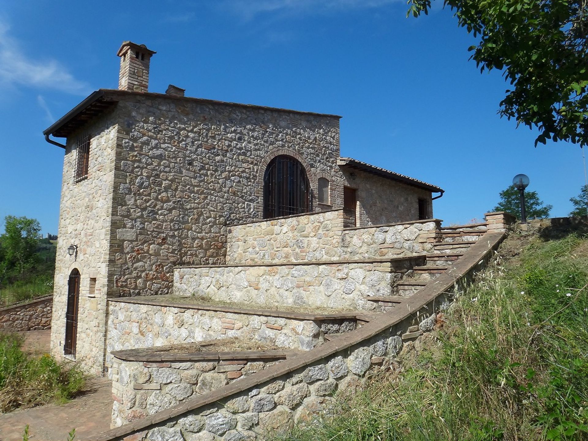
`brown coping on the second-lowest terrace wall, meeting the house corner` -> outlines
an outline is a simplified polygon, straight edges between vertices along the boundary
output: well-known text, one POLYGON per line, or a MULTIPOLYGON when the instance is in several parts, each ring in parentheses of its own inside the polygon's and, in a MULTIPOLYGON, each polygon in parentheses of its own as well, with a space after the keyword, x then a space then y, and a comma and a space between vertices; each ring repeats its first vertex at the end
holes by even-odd
POLYGON ((199 305, 198 303, 181 303, 173 302, 168 299, 151 300, 146 298, 139 299, 136 297, 121 297, 108 299, 109 302, 121 302, 121 303, 136 303, 137 305, 152 305, 152 306, 168 306, 169 308, 183 308, 183 309, 200 309, 205 311, 218 311, 218 312, 232 312, 237 314, 246 315, 263 315, 277 317, 281 319, 296 319, 296 320, 338 320, 338 319, 354 319, 359 312, 338 312, 332 314, 311 314, 304 312, 289 312, 272 309, 249 309, 249 308, 236 308, 235 306, 212 306, 212 305, 199 305))

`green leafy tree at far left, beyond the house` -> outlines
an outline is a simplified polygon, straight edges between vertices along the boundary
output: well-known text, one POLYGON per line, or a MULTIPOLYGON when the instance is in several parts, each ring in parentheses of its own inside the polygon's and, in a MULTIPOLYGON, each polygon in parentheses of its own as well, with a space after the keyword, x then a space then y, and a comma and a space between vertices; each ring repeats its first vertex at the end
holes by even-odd
POLYGON ((5 232, 0 236, 0 283, 14 275, 22 276, 36 262, 41 225, 38 220, 6 216, 5 232))

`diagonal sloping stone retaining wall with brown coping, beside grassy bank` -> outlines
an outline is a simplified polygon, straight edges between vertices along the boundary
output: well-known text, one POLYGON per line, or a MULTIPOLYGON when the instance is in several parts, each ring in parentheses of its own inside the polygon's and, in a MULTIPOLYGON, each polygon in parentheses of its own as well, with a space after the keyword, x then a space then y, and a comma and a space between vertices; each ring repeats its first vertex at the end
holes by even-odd
POLYGON ((505 236, 487 233, 440 274, 436 283, 400 307, 373 315, 355 332, 132 425, 112 429, 94 441, 267 439, 295 423, 329 416, 333 393, 353 391, 370 373, 397 368, 396 356, 422 343, 415 339, 423 339, 423 332, 435 327, 439 313, 449 305, 449 293, 460 290, 474 271, 483 268, 505 236), (237 402, 239 407, 231 405, 237 402))

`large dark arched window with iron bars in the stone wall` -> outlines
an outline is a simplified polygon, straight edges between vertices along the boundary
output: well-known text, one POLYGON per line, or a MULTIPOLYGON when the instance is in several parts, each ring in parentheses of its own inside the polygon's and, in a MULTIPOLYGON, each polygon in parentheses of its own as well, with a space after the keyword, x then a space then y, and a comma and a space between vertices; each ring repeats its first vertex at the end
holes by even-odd
POLYGON ((310 183, 304 167, 292 156, 276 156, 263 175, 263 217, 278 218, 309 211, 310 183))

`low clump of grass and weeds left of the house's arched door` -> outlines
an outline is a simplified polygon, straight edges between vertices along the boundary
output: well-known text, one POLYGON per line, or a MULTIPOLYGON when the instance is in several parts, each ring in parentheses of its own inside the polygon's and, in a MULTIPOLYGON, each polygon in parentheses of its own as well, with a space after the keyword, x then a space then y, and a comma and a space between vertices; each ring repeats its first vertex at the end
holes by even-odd
POLYGON ((49 354, 34 357, 21 349, 21 336, 0 333, 0 412, 49 401, 65 402, 82 389, 82 372, 49 354))

